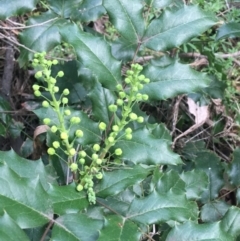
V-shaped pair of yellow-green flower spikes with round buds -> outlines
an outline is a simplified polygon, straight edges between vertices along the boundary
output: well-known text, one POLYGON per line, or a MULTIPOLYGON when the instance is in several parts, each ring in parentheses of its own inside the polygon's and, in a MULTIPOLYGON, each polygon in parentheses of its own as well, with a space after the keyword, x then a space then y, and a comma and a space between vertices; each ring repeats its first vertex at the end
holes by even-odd
MULTIPOLYGON (((52 120, 49 118, 43 119, 43 123, 48 125, 50 131, 59 139, 59 141, 53 141, 52 146, 48 148, 47 152, 49 155, 58 156, 58 149, 64 149, 63 151, 68 156, 67 164, 75 177, 77 191, 85 190, 89 202, 95 204, 94 182, 103 178, 102 169, 110 162, 111 156, 119 159, 123 155, 121 148, 114 149, 115 144, 119 138, 132 139, 132 129, 126 127, 130 122, 144 122, 144 118, 137 116, 132 109, 136 102, 148 100, 148 95, 141 94, 139 91, 150 80, 140 74, 142 66, 132 64, 131 69, 126 73, 125 88, 121 84, 116 86, 118 98, 115 103, 108 106, 109 111, 113 113, 114 117, 117 115, 117 111, 120 112, 120 117, 114 118, 111 126, 107 126, 104 122, 99 123, 98 127, 104 138, 103 143, 93 144, 90 150, 89 146, 86 148, 83 146, 81 150, 78 150, 75 140, 76 138, 83 137, 84 132, 80 128, 77 128, 74 137, 71 137, 70 129, 73 125, 78 126, 81 119, 78 116, 72 116, 71 109, 68 107, 67 96, 70 93, 68 89, 64 89, 60 97, 56 98, 56 93, 59 92, 59 88, 56 85, 57 79, 64 76, 63 71, 59 71, 57 76, 52 77, 51 67, 56 64, 58 64, 57 60, 51 61, 46 59, 46 53, 35 54, 32 62, 33 67, 38 69, 35 74, 36 79, 42 80, 45 83, 43 86, 34 84, 34 94, 37 97, 41 96, 44 98, 42 106, 52 108, 58 118, 58 123, 52 123, 52 120), (50 94, 50 99, 45 97, 41 91, 47 91, 50 94), (70 118, 68 125, 65 122, 66 118, 70 118), (113 150, 112 154, 109 153, 110 148, 113 150)), ((61 157, 59 156, 59 158, 61 157)))

